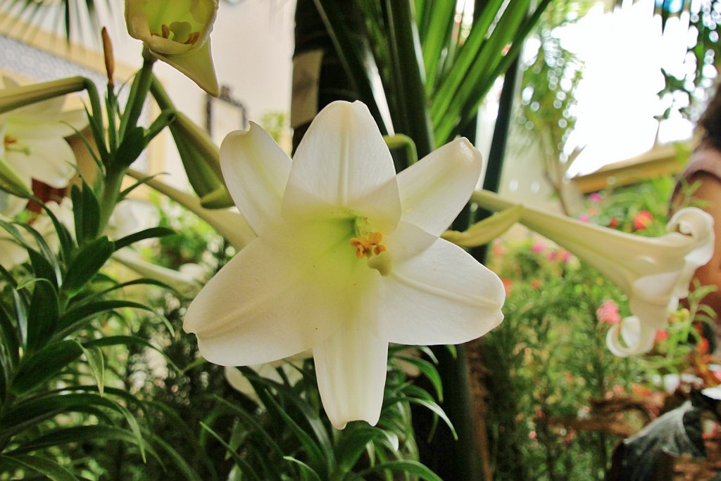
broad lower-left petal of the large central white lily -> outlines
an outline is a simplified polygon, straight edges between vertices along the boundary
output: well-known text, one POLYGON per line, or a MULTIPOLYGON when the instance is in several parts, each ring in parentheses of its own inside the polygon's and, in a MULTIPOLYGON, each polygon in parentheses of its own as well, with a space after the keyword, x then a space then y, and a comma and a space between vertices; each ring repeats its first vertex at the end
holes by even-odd
POLYGON ((311 230, 311 238, 301 228, 278 234, 249 243, 188 307, 183 328, 198 335, 208 361, 247 366, 283 359, 316 346, 345 318, 355 259, 334 236, 345 240, 347 233, 326 226, 311 230))

